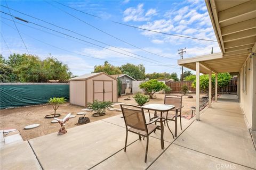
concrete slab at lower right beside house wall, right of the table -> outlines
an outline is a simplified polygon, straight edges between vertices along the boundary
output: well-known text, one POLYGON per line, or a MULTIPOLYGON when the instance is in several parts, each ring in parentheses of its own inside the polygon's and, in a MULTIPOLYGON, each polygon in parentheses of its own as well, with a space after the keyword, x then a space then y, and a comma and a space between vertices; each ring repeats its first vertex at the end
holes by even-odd
POLYGON ((174 143, 230 162, 256 168, 249 130, 195 121, 174 143))

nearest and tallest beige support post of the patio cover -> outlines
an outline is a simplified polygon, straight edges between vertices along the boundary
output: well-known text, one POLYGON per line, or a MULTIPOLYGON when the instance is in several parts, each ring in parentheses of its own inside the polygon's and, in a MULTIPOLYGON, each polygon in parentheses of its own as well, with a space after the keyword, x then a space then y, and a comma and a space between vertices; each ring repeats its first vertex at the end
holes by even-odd
POLYGON ((200 110, 200 63, 196 62, 196 120, 199 121, 199 110, 200 110))

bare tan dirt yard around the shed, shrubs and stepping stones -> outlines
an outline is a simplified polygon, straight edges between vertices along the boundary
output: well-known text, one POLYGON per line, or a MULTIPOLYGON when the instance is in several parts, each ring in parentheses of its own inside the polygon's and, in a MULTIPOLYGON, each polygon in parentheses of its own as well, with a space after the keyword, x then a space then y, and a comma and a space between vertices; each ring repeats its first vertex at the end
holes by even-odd
MULTIPOLYGON (((183 96, 182 104, 184 105, 182 109, 182 114, 190 114, 191 113, 191 106, 195 106, 196 99, 195 95, 192 94, 194 98, 188 98, 187 96, 183 96)), ((136 104, 133 95, 122 96, 118 98, 118 102, 125 103, 125 104, 136 104), (131 100, 124 100, 125 98, 131 98, 131 100)), ((164 103, 164 94, 156 94, 156 98, 150 99, 149 103, 164 103)), ((137 104, 136 104, 137 105, 137 104)), ((115 108, 120 108, 119 105, 114 106, 115 108)), ((76 115, 78 112, 83 112, 81 109, 84 107, 82 106, 74 106, 70 105, 69 103, 61 104, 58 108, 56 113, 61 114, 58 118, 63 118, 66 114, 71 113, 76 115)), ((36 137, 40 137, 45 134, 50 134, 53 132, 59 131, 59 124, 58 123, 51 123, 53 119, 45 118, 44 116, 47 114, 54 113, 53 108, 51 105, 39 105, 39 106, 31 106, 31 107, 21 107, 21 108, 14 108, 14 109, 2 109, 0 113, 0 129, 17 129, 23 140, 28 140, 36 137), (29 124, 40 124, 38 128, 24 130, 23 128, 29 124)), ((100 117, 93 117, 91 112, 87 112, 86 117, 90 118, 91 122, 102 120, 103 118, 115 116, 118 114, 122 114, 118 111, 107 111, 105 116, 100 117)), ((77 126, 79 115, 76 115, 74 118, 70 118, 69 121, 66 123, 66 129, 73 128, 77 126)))

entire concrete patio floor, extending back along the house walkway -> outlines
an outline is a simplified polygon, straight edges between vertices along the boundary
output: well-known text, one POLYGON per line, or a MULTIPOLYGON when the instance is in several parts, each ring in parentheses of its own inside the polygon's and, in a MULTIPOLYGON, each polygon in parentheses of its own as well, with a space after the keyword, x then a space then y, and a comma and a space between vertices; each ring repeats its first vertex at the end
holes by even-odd
MULTIPOLYGON (((146 140, 129 133, 121 115, 105 118, 1 148, 1 169, 255 169, 256 150, 235 95, 221 95, 201 121, 182 118, 183 131, 173 139, 164 126, 146 140)), ((179 122, 179 121, 178 121, 179 122)), ((171 123, 174 128, 174 123, 171 123)), ((178 125, 179 127, 179 125, 178 125)))

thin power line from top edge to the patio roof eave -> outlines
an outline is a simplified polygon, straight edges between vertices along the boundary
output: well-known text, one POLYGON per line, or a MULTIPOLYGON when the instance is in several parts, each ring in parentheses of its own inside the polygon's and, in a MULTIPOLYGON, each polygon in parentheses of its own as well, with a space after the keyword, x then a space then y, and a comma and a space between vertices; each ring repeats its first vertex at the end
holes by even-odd
MULTIPOLYGON (((58 4, 61 4, 63 6, 66 6, 66 7, 69 7, 73 10, 76 10, 78 12, 81 12, 81 13, 84 13, 86 15, 91 15, 95 18, 99 18, 99 19, 102 19, 100 16, 96 16, 96 15, 92 15, 92 14, 89 14, 89 13, 86 13, 86 12, 83 12, 83 11, 80 11, 80 10, 77 10, 76 8, 74 7, 70 7, 68 5, 65 5, 65 4, 62 4, 60 2, 57 2, 57 1, 54 1, 58 4)), ((155 32, 155 33, 161 33, 161 34, 164 34, 164 35, 169 35, 169 36, 176 36, 176 37, 182 37, 182 38, 189 38, 189 39, 196 39, 196 40, 203 40, 203 41, 212 41, 212 42, 218 42, 217 40, 212 40, 212 39, 203 39, 203 38, 195 38, 195 37, 189 37, 189 36, 183 36, 183 35, 175 35, 175 34, 172 34, 172 33, 167 33, 167 32, 161 32, 161 31, 155 31, 155 30, 150 30, 150 29, 145 29, 145 28, 141 28, 141 27, 136 27, 134 25, 129 25, 129 24, 125 24, 125 23, 122 23, 122 22, 117 22, 117 21, 112 21, 110 20, 111 22, 114 22, 114 23, 117 23, 117 24, 121 24, 121 25, 125 25, 127 27, 131 27, 131 28, 136 28, 136 29, 141 29, 141 30, 144 30, 144 31, 150 31, 150 32, 155 32)))

